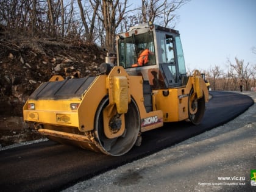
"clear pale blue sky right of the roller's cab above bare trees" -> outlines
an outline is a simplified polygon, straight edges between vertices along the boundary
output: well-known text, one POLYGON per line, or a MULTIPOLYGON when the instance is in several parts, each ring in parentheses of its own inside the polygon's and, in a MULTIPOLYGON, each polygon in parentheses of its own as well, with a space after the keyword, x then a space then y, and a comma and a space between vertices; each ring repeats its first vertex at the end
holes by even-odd
POLYGON ((235 57, 256 64, 256 0, 191 0, 176 13, 187 69, 225 71, 235 57))

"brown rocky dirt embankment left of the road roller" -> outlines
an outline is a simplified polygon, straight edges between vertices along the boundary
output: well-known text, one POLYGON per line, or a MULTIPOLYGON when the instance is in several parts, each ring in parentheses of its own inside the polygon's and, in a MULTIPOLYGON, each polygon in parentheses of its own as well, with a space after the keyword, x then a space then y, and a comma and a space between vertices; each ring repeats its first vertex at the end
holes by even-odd
POLYGON ((105 52, 80 40, 29 38, 0 27, 0 144, 40 138, 23 123, 23 105, 41 82, 96 75, 105 52), (77 73, 77 71, 79 71, 77 73))

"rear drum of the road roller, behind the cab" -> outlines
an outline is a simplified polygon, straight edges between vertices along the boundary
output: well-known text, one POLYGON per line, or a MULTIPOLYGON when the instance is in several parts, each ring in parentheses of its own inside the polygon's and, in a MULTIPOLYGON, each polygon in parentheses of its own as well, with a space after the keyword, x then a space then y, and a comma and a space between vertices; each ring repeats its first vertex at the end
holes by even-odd
POLYGON ((205 99, 204 96, 198 99, 194 89, 190 91, 190 96, 188 98, 188 117, 194 125, 201 122, 205 111, 205 99))

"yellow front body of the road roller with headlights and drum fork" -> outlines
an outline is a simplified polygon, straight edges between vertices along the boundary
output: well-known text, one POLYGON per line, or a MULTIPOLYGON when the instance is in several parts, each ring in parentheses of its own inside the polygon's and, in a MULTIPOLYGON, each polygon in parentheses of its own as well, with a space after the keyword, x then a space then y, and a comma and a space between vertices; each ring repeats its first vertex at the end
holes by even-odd
MULTIPOLYGON (((91 131, 94 130, 95 114, 99 103, 106 96, 109 98, 109 104, 105 107, 103 114, 104 133, 107 138, 112 139, 123 135, 124 114, 127 113, 131 98, 136 102, 141 119, 157 117, 154 123, 143 126, 142 131, 163 126, 161 110, 147 113, 144 108, 143 80, 140 76, 128 76, 124 68, 115 66, 108 76, 98 76, 91 81, 83 91, 80 88, 83 87, 83 81, 79 84, 77 79, 41 84, 23 107, 24 121, 34 122, 38 132, 51 140, 102 152, 105 151, 98 149, 98 141, 91 131), (77 92, 80 93, 77 94, 77 92), (30 108, 30 105, 34 108, 30 108), (77 108, 72 108, 72 105, 77 108), (117 132, 113 132, 108 129, 108 123, 116 113, 121 114, 122 124, 117 132)), ((87 83, 86 80, 84 82, 87 83)))

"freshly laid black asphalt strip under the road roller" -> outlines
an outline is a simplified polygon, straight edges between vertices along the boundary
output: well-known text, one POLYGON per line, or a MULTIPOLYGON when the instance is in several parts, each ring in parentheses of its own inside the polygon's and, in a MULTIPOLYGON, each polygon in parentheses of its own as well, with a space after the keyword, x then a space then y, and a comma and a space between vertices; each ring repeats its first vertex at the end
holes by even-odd
POLYGON ((1 191, 60 191, 104 171, 180 143, 187 138, 227 123, 254 101, 243 94, 211 91, 202 123, 168 123, 143 133, 140 147, 112 157, 52 141, 0 151, 1 191))

